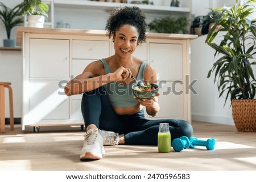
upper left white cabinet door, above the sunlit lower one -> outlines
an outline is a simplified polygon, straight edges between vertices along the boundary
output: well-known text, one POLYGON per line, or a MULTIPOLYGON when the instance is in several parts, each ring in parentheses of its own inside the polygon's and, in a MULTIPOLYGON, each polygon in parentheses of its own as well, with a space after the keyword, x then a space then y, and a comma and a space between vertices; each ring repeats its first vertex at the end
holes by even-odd
POLYGON ((30 39, 30 78, 69 78, 69 40, 30 39))

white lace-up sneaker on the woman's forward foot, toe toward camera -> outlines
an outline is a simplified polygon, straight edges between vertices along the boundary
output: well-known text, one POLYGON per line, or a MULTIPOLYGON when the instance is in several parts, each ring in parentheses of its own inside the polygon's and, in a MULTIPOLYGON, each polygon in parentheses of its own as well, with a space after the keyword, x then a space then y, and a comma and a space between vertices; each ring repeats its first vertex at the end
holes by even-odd
POLYGON ((98 129, 89 129, 84 134, 84 146, 82 146, 80 160, 102 159, 105 154, 103 140, 98 129))

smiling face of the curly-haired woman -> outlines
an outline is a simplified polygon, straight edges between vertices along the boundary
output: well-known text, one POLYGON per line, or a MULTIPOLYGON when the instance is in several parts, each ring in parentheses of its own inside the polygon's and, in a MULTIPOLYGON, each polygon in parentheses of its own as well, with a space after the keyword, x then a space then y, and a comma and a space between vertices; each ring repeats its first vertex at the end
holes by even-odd
POLYGON ((137 28, 125 24, 115 32, 113 36, 115 54, 120 57, 128 57, 137 48, 139 33, 137 28))

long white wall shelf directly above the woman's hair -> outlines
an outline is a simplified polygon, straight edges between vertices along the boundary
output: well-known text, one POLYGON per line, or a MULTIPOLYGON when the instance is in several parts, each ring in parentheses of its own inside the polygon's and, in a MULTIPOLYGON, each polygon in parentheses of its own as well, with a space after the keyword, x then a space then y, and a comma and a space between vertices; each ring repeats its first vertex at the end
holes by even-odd
POLYGON ((95 1, 79 1, 79 0, 55 0, 55 7, 68 7, 68 8, 87 8, 95 10, 110 11, 116 6, 138 6, 143 12, 156 13, 156 14, 184 14, 189 13, 188 7, 170 7, 170 6, 155 6, 155 5, 138 5, 131 3, 113 3, 113 2, 95 2, 95 1))

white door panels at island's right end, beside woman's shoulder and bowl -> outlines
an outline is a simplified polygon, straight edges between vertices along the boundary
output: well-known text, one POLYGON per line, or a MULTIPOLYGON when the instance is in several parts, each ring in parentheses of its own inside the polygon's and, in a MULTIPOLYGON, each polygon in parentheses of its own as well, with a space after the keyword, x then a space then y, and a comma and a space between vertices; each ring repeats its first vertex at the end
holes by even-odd
POLYGON ((160 88, 160 111, 156 117, 183 118, 183 45, 150 43, 149 55, 160 88))

